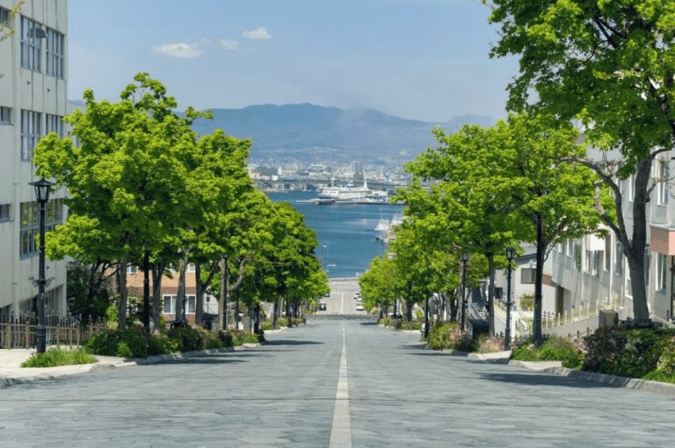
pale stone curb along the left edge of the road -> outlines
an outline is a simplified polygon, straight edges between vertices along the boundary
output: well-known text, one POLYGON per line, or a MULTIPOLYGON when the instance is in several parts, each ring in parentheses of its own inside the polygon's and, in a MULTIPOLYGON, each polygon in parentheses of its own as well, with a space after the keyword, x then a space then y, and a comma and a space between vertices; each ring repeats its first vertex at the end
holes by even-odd
POLYGON ((121 362, 96 362, 93 364, 81 364, 73 366, 58 366, 58 367, 35 367, 35 369, 44 369, 39 374, 33 376, 0 376, 0 389, 5 387, 34 383, 35 381, 50 381, 58 378, 65 378, 68 376, 77 376, 81 374, 90 374, 97 371, 105 371, 117 369, 119 367, 134 367, 138 365, 154 365, 161 364, 167 361, 182 360, 185 358, 195 358, 203 355, 215 355, 217 353, 225 353, 230 351, 245 351, 255 349, 261 344, 242 344, 236 347, 222 347, 220 349, 207 349, 199 351, 186 351, 183 353, 169 353, 168 355, 149 356, 148 358, 132 358, 121 362), (49 369, 58 369, 63 367, 70 367, 67 371, 49 371, 49 369))

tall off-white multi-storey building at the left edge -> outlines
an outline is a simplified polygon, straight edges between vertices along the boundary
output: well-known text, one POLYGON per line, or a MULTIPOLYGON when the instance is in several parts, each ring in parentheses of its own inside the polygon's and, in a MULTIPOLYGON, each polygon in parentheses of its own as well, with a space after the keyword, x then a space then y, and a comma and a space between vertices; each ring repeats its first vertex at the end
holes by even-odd
MULTIPOLYGON (((0 0, 0 20, 15 0, 0 0)), ((67 0, 26 0, 0 42, 0 317, 36 310, 38 180, 33 147, 67 114, 67 0)), ((47 230, 65 220, 65 189, 52 191, 47 230)), ((47 260, 45 310, 65 315, 65 261, 47 260)))

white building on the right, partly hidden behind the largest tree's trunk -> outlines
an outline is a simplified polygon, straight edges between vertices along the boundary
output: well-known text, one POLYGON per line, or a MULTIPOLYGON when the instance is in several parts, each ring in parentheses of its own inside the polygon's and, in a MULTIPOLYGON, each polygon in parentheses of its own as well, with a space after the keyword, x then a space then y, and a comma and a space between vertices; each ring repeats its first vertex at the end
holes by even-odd
MULTIPOLYGON (((652 178, 669 177, 668 153, 652 167, 652 178)), ((621 182, 624 219, 628 235, 633 226, 633 176, 621 182)), ((647 244, 644 259, 647 299, 652 317, 669 320, 673 314, 675 285, 675 201, 670 200, 668 182, 659 182, 646 207, 647 244)), ((606 239, 587 235, 578 241, 559 244, 552 254, 552 278, 556 288, 555 310, 596 307, 600 301, 612 302, 619 318, 633 316, 630 269, 621 244, 610 232, 606 239)))

